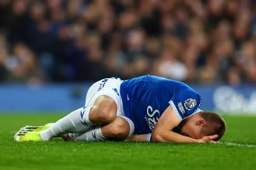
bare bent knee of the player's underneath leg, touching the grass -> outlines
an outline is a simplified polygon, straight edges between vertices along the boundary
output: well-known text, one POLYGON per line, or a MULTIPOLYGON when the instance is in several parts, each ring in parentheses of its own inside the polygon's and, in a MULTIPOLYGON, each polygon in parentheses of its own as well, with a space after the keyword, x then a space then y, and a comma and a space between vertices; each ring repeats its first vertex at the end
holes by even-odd
POLYGON ((109 140, 125 140, 133 131, 130 123, 120 116, 116 116, 111 123, 101 124, 101 133, 109 140))

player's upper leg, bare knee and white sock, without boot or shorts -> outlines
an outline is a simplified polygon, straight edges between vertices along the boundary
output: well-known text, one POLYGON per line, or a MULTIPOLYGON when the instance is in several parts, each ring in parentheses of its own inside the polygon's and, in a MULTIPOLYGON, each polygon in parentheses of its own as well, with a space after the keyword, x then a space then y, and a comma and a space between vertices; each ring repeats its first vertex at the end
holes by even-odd
POLYGON ((117 113, 117 104, 109 96, 99 96, 93 107, 79 108, 58 120, 49 129, 40 132, 42 141, 48 141, 66 133, 79 133, 98 123, 113 121, 117 113))

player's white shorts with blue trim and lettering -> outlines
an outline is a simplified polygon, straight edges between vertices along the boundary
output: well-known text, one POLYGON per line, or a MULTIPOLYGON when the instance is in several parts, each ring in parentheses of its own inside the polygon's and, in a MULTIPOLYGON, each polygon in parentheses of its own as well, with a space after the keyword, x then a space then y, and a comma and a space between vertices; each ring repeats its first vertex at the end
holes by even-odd
POLYGON ((102 95, 113 98, 117 104, 116 115, 127 120, 130 125, 130 133, 128 136, 130 137, 134 132, 134 124, 128 117, 125 117, 124 114, 123 102, 120 94, 120 85, 122 82, 123 80, 113 77, 97 81, 87 91, 85 106, 92 107, 96 99, 102 95))

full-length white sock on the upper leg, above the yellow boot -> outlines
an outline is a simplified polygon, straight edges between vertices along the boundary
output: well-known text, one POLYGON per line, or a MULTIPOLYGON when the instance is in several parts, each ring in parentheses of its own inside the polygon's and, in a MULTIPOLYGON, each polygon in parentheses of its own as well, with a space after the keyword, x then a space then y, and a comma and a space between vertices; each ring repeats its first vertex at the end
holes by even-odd
POLYGON ((93 123, 88 119, 91 107, 79 108, 58 120, 50 128, 41 131, 42 141, 48 141, 66 133, 79 133, 90 128, 93 123))

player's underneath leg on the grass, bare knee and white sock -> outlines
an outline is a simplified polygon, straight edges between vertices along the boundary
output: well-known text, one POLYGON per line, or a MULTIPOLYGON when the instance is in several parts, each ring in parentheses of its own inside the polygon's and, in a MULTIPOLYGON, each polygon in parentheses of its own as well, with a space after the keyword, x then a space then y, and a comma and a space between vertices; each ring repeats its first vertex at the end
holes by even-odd
POLYGON ((64 135, 65 140, 77 141, 121 141, 130 137, 134 132, 133 122, 125 116, 116 116, 115 120, 107 124, 98 124, 85 132, 64 135))

